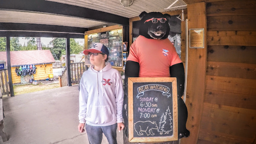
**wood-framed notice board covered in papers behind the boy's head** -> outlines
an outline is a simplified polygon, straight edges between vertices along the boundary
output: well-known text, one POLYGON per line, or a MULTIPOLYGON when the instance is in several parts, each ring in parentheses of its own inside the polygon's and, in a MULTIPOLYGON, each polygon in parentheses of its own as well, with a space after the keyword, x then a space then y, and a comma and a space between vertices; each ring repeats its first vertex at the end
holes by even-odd
MULTIPOLYGON (((109 50, 108 62, 112 68, 122 68, 123 66, 123 30, 110 30, 88 35, 88 49, 92 43, 100 42, 109 50)), ((87 57, 89 60, 89 57, 87 57)))

